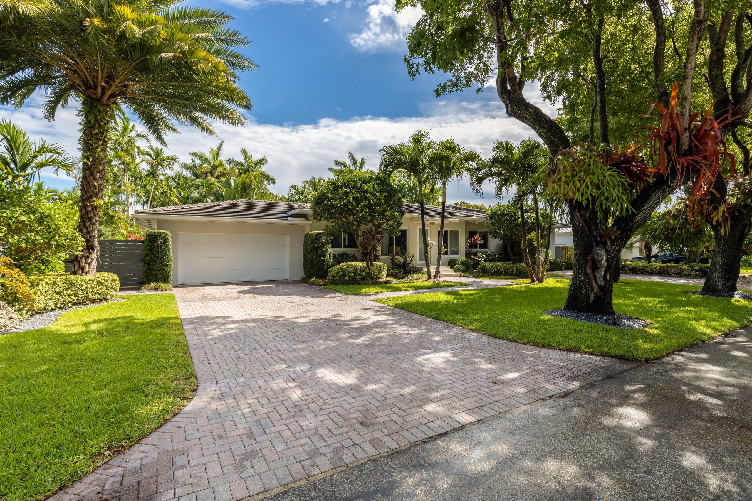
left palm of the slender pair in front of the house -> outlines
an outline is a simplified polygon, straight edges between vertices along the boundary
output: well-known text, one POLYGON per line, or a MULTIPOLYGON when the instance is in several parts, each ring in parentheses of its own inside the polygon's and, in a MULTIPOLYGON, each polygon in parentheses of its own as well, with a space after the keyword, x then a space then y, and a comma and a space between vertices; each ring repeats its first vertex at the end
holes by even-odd
MULTIPOLYGON (((447 152, 436 148, 431 140, 431 133, 426 130, 415 131, 407 143, 390 144, 381 148, 381 171, 393 174, 404 171, 414 178, 418 186, 420 204, 420 228, 423 238, 423 259, 426 262, 426 275, 431 279, 431 262, 429 261, 428 235, 426 234, 425 201, 426 186, 432 184, 433 165, 449 156, 447 152)), ((439 264, 440 266, 441 264, 439 264)))

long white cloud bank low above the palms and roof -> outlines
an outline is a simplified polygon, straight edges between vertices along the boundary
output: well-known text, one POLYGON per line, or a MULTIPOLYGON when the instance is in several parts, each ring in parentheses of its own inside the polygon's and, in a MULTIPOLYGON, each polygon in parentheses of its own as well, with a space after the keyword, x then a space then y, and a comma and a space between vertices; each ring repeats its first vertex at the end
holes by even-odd
MULTIPOLYGON (((15 110, 0 107, 0 118, 17 122, 29 135, 37 139, 61 143, 71 154, 77 154, 78 119, 76 110, 60 110, 55 122, 47 122, 41 116, 41 99, 32 98, 26 107, 15 110)), ((202 134, 195 129, 183 128, 183 134, 171 134, 167 138, 171 152, 180 160, 187 160, 191 151, 205 151, 225 141, 228 156, 239 154, 241 147, 252 149, 254 155, 269 158, 268 171, 277 178, 274 191, 287 192, 292 183, 300 183, 311 176, 324 176, 335 158, 345 158, 348 151, 368 157, 367 165, 378 168, 378 150, 389 143, 407 140, 419 128, 432 131, 435 139, 453 137, 468 149, 487 156, 495 140, 519 141, 533 135, 532 131, 517 120, 505 116, 503 107, 494 101, 462 103, 433 101, 426 105, 427 116, 387 118, 359 116, 346 120, 320 119, 303 125, 259 124, 251 119, 246 127, 231 127, 217 124, 218 137, 202 134)), ((51 173, 46 173, 52 175, 51 173)), ((60 183, 55 183, 60 186, 60 183)), ((486 187, 487 201, 493 202, 493 186, 486 187)), ((468 183, 458 183, 450 191, 454 200, 472 200, 475 195, 468 183)))

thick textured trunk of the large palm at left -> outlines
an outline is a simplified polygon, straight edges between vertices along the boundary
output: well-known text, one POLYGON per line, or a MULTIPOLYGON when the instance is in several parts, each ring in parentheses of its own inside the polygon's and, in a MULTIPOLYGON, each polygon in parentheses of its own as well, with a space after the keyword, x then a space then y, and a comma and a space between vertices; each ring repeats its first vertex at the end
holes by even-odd
POLYGON ((94 275, 99 255, 99 201, 105 188, 110 106, 90 98, 81 99, 81 204, 78 231, 83 249, 73 259, 71 274, 94 275))

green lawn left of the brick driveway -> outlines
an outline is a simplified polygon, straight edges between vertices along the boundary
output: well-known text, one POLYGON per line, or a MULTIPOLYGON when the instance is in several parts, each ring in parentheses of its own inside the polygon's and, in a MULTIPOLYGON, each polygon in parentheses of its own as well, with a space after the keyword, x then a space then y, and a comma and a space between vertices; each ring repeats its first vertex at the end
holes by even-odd
POLYGON ((174 415, 196 377, 172 294, 0 335, 0 499, 44 499, 174 415))

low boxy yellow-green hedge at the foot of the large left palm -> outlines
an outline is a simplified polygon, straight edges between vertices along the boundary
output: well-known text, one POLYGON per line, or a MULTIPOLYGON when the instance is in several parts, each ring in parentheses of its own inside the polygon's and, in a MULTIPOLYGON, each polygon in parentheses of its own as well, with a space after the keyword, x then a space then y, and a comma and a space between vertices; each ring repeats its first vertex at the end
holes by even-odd
POLYGON ((35 311, 47 311, 111 300, 120 289, 120 279, 114 273, 104 272, 96 275, 48 273, 29 276, 29 285, 37 297, 35 311))

